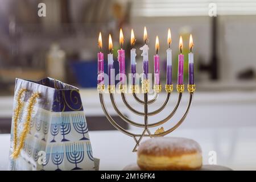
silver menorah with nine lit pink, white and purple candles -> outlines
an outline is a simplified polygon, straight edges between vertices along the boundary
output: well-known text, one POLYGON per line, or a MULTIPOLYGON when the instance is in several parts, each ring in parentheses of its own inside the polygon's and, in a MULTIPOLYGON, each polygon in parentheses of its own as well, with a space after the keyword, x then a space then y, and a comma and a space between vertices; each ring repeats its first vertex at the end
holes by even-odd
POLYGON ((156 36, 156 41, 155 41, 155 51, 156 54, 154 55, 154 92, 155 92, 155 97, 152 98, 152 100, 148 100, 148 92, 150 90, 150 79, 149 79, 149 73, 148 73, 148 38, 147 38, 147 29, 144 27, 144 36, 143 36, 143 41, 144 45, 140 47, 139 49, 142 51, 143 56, 143 75, 142 75, 142 85, 141 85, 141 90, 143 94, 143 99, 141 99, 137 93, 139 90, 139 85, 137 83, 136 79, 136 49, 134 48, 134 44, 136 42, 135 36, 134 36, 134 31, 133 29, 131 30, 131 53, 130 53, 130 58, 131 58, 131 93, 133 94, 133 97, 135 101, 137 101, 139 104, 144 106, 143 111, 138 111, 134 109, 133 106, 129 105, 127 99, 126 99, 126 93, 127 93, 127 85, 126 85, 126 75, 125 75, 125 50, 123 49, 123 32, 122 28, 120 29, 120 34, 119 34, 119 44, 121 49, 118 49, 118 62, 119 62, 119 92, 121 93, 123 103, 127 106, 127 108, 132 111, 134 114, 137 114, 139 116, 142 116, 144 118, 144 123, 138 123, 135 121, 131 121, 131 119, 127 118, 117 107, 117 104, 115 104, 115 99, 114 99, 114 93, 115 93, 115 84, 114 84, 114 60, 113 60, 113 42, 112 42, 112 36, 109 34, 109 54, 108 54, 108 93, 110 96, 110 100, 112 102, 112 105, 114 107, 114 110, 116 113, 123 119, 123 121, 129 123, 130 125, 136 126, 136 127, 142 127, 143 131, 141 134, 135 134, 131 133, 130 131, 127 131, 123 129, 114 119, 110 116, 108 113, 108 110, 106 109, 106 105, 104 102, 104 90, 105 90, 105 85, 104 85, 104 53, 102 53, 102 37, 101 37, 101 32, 99 34, 98 38, 98 47, 100 48, 100 52, 98 52, 98 93, 100 94, 100 102, 102 109, 104 111, 104 114, 112 123, 112 125, 118 129, 119 131, 122 131, 122 133, 132 137, 136 144, 135 147, 133 148, 133 152, 137 151, 137 147, 139 146, 139 143, 141 142, 143 137, 161 137, 167 134, 170 134, 172 131, 177 129, 181 125, 181 123, 185 120, 187 117, 189 108, 191 107, 192 103, 192 98, 193 98, 193 93, 195 92, 196 85, 194 82, 194 68, 193 68, 193 53, 192 53, 192 48, 193 48, 193 39, 192 35, 189 37, 189 49, 190 53, 188 53, 188 75, 189 75, 189 81, 188 81, 188 92, 189 92, 189 101, 188 101, 188 106, 187 109, 185 110, 185 113, 183 114, 183 117, 170 129, 164 131, 163 127, 160 129, 156 130, 154 134, 151 134, 150 128, 151 127, 157 127, 160 125, 163 125, 167 121, 169 121, 174 114, 176 113, 176 110, 178 109, 181 101, 182 94, 184 92, 184 82, 183 82, 183 67, 184 67, 184 55, 182 54, 182 49, 183 49, 183 39, 182 36, 180 36, 180 41, 179 41, 179 49, 180 49, 180 54, 178 56, 178 70, 177 70, 177 92, 179 93, 179 96, 177 98, 177 103, 174 107, 174 110, 171 111, 171 113, 164 119, 154 122, 154 123, 148 123, 148 117, 151 117, 153 115, 161 113, 163 109, 166 107, 168 104, 168 101, 170 100, 171 93, 173 91, 173 85, 172 85, 172 50, 170 49, 171 47, 171 30, 170 28, 168 29, 168 34, 167 34, 167 43, 168 43, 168 49, 167 49, 167 80, 166 80, 166 100, 164 101, 163 105, 160 106, 158 109, 154 111, 148 111, 148 106, 153 104, 157 98, 159 93, 162 90, 162 86, 160 84, 160 67, 159 67, 159 38, 156 36))

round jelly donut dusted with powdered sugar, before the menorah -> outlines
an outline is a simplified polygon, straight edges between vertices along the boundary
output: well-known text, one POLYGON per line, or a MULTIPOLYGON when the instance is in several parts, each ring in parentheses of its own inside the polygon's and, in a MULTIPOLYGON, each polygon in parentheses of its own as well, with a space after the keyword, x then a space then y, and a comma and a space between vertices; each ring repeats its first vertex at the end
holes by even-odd
POLYGON ((142 170, 194 170, 202 166, 200 145, 187 138, 148 139, 139 145, 137 155, 142 170))

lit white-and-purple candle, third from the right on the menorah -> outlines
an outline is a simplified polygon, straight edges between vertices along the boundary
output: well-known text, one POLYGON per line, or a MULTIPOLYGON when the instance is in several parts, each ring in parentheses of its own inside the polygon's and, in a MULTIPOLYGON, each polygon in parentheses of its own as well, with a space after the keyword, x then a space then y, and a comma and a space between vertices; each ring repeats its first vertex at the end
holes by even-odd
POLYGON ((167 85, 171 85, 172 84, 172 49, 170 49, 170 47, 171 47, 171 43, 172 43, 172 38, 171 38, 171 30, 170 30, 170 28, 168 29, 167 43, 168 43, 169 48, 166 50, 166 52, 167 52, 166 84, 167 85))

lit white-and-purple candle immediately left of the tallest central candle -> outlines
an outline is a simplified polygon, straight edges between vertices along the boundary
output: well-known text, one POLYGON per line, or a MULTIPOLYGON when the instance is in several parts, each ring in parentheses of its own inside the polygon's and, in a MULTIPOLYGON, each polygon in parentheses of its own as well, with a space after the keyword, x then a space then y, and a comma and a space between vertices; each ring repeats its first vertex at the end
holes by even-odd
POLYGON ((131 84, 135 85, 135 81, 136 81, 136 49, 134 48, 134 44, 135 44, 135 37, 134 37, 134 32, 133 29, 131 29, 131 76, 132 76, 132 80, 131 80, 131 84))

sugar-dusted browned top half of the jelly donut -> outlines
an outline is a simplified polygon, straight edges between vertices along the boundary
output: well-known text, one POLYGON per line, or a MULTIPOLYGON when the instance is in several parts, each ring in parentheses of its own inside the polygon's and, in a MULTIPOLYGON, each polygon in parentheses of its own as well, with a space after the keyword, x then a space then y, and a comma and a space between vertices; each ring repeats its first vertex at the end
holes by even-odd
POLYGON ((179 137, 156 137, 142 142, 138 147, 139 153, 162 154, 186 154, 191 152, 201 153, 200 145, 192 139, 179 137))

